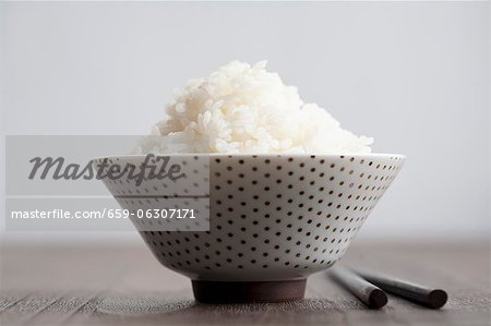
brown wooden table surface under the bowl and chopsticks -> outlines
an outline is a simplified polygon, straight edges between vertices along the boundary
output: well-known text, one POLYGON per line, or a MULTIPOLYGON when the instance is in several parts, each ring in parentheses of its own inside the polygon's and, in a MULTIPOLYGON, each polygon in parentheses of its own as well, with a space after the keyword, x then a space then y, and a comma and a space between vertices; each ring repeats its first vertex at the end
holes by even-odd
POLYGON ((1 325, 491 325, 490 249, 481 244, 366 244, 345 264, 448 291, 440 311, 390 295, 369 310, 324 273, 302 301, 200 304, 190 281, 145 245, 12 246, 1 250, 1 325))

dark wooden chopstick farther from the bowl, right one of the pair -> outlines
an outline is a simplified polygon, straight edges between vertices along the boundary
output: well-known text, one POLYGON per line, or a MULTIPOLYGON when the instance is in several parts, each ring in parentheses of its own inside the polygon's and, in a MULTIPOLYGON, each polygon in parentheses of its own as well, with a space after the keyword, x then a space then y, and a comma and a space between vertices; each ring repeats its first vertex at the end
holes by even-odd
POLYGON ((354 270, 369 282, 393 294, 426 305, 431 309, 440 309, 445 305, 448 294, 442 289, 427 288, 391 276, 375 275, 364 270, 354 270))

